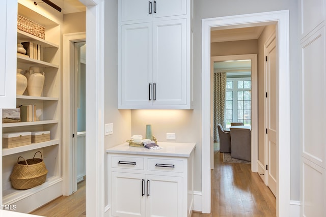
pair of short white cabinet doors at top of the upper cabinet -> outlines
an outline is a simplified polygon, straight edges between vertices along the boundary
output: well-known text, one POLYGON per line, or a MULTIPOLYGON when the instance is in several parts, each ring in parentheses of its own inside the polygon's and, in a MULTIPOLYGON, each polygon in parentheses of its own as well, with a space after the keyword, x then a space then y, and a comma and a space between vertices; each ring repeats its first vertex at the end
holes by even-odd
POLYGON ((121 21, 146 20, 186 14, 184 0, 122 0, 121 21))

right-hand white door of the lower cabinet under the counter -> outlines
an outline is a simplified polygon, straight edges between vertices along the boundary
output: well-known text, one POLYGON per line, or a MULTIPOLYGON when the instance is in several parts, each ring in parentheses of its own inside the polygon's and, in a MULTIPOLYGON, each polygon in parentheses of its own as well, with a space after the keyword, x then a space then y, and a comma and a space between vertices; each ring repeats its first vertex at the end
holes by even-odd
POLYGON ((183 216, 182 177, 147 175, 146 216, 183 216))

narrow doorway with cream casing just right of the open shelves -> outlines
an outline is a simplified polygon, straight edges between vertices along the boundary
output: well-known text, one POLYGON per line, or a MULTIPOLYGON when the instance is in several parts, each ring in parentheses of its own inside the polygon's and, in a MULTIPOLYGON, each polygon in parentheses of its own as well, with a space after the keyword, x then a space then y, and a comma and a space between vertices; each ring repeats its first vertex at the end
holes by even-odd
POLYGON ((86 35, 63 37, 63 195, 86 175, 86 35))

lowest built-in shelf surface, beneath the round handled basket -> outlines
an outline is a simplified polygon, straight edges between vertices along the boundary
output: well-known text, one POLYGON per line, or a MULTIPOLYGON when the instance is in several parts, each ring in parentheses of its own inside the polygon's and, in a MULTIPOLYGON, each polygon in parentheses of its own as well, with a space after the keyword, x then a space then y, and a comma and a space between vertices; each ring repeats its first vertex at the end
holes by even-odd
POLYGON ((3 191, 3 204, 14 204, 17 201, 32 196, 42 190, 45 190, 49 186, 56 184, 60 181, 62 181, 62 177, 51 176, 51 177, 47 177, 43 184, 38 185, 32 189, 26 189, 26 190, 17 190, 14 188, 6 189, 3 191))

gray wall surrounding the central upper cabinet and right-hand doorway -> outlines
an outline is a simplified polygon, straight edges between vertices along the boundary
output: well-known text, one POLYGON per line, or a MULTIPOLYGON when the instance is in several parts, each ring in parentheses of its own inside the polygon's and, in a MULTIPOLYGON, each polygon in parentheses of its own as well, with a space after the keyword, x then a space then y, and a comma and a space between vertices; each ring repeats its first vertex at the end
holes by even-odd
POLYGON ((196 142, 195 191, 201 191, 201 24, 203 18, 290 10, 290 106, 291 106, 291 200, 300 199, 300 154, 298 135, 298 11, 296 0, 195 0, 194 1, 194 110, 117 110, 117 1, 105 2, 105 122, 114 122, 114 135, 105 137, 105 147, 144 134, 152 124, 158 141, 176 133, 177 142, 196 142), (165 118, 162 118, 165 116, 165 118))

